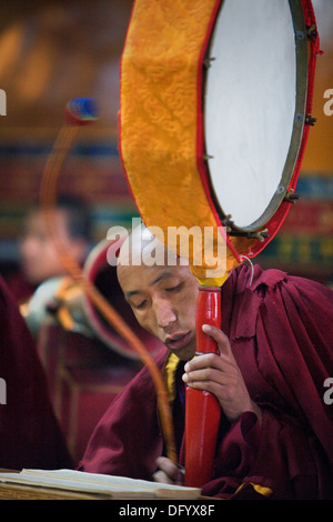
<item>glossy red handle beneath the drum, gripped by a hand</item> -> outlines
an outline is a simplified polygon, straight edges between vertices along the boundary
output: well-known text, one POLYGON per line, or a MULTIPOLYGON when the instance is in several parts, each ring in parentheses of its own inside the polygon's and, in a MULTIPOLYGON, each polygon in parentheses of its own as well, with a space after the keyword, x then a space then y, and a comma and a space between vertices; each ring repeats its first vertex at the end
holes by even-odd
MULTIPOLYGON (((202 325, 221 328, 221 289, 200 287, 196 308, 196 354, 216 353, 215 341, 202 325)), ((185 485, 201 488, 213 476, 221 406, 209 392, 186 388, 185 485)))

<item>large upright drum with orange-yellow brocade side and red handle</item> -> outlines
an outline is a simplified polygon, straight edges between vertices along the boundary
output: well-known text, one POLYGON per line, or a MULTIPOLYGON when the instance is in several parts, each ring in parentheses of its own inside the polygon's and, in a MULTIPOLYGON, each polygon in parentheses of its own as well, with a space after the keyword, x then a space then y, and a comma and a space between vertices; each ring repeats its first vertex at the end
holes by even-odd
MULTIPOLYGON (((184 257, 181 241, 170 242, 174 228, 201 239, 216 232, 193 239, 209 248, 201 263, 194 247, 188 252, 201 290, 200 353, 215 351, 203 349, 201 325, 221 324, 216 287, 263 250, 295 200, 317 51, 310 0, 134 2, 121 60, 120 152, 143 222, 162 229, 171 250, 184 257), (225 270, 211 278, 221 237, 225 270)), ((221 406, 188 388, 185 409, 186 485, 200 486, 212 478, 221 406)))

